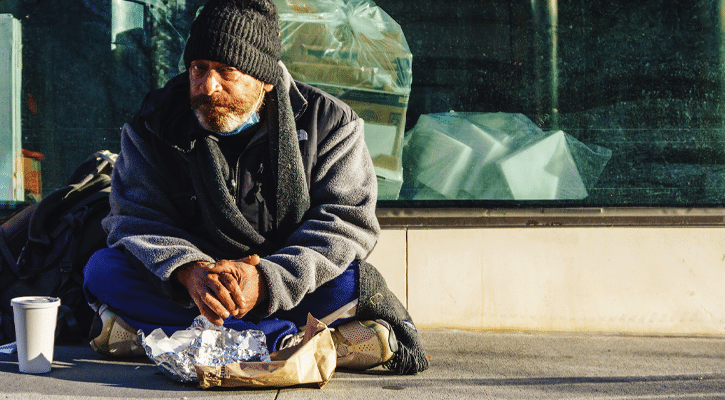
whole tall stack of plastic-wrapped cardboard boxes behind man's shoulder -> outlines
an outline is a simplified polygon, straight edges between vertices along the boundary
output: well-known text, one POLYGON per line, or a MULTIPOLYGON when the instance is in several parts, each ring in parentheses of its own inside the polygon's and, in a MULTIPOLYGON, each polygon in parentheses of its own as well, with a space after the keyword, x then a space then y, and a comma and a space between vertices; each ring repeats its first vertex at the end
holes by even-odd
POLYGON ((275 0, 282 61, 295 80, 347 103, 365 121, 378 199, 398 198, 412 54, 402 28, 370 0, 275 0))

